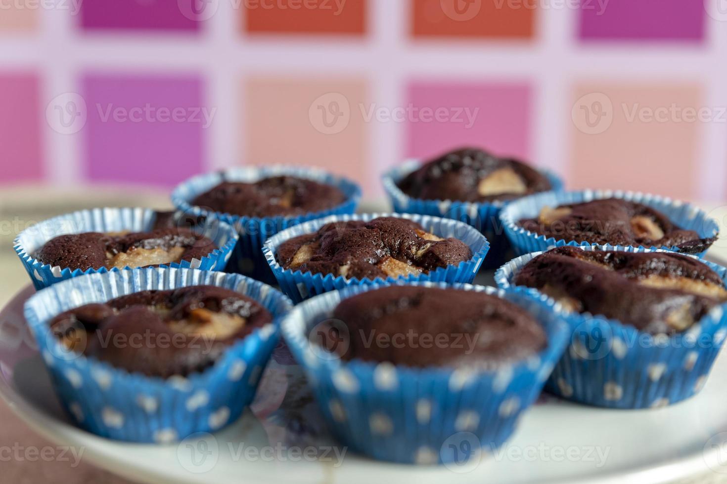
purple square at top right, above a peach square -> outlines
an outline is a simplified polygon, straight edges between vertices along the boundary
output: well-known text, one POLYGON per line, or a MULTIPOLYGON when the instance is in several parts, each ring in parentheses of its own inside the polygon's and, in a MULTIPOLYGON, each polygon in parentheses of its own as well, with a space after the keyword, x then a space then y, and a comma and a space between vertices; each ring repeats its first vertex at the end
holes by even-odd
POLYGON ((706 16, 702 0, 581 0, 579 30, 583 39, 700 41, 706 16))

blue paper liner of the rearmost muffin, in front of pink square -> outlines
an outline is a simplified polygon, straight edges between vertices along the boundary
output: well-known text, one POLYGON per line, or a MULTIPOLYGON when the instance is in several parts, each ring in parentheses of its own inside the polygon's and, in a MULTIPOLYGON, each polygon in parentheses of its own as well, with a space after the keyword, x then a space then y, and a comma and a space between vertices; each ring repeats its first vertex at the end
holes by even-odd
MULTIPOLYGON (((383 176, 384 189, 398 213, 419 213, 442 218, 452 218, 475 227, 481 231, 490 242, 490 252, 484 268, 497 268, 507 261, 507 251, 510 242, 504 234, 499 221, 499 213, 507 202, 453 202, 451 200, 421 200, 411 198, 397 186, 398 181, 409 175, 421 166, 418 160, 411 160, 401 166, 393 168, 383 176)), ((553 191, 563 189, 563 181, 547 170, 540 169, 553 186, 553 191)))

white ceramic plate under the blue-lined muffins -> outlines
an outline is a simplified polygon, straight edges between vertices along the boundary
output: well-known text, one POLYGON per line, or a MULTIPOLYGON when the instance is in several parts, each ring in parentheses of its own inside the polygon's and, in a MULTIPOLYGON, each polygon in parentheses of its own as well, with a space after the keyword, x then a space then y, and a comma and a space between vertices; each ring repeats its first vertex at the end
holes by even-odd
MULTIPOLYGON (((478 276, 479 283, 490 281, 491 274, 478 276)), ((225 430, 172 446, 105 440, 73 427, 60 409, 23 321, 23 302, 32 293, 26 288, 0 313, 0 395, 49 440, 82 449, 99 467, 132 480, 641 484, 705 472, 727 478, 727 353, 718 358, 702 393, 666 409, 605 410, 544 396, 501 451, 462 468, 387 464, 341 454, 344 449, 329 438, 305 378, 282 345, 252 409, 225 430)))

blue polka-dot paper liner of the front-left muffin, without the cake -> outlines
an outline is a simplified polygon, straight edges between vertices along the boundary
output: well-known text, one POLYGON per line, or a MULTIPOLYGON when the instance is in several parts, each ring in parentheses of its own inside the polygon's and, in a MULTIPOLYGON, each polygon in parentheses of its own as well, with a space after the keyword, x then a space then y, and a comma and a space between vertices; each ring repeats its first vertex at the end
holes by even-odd
POLYGON ((237 274, 186 268, 137 268, 91 274, 54 284, 25 303, 25 318, 73 422, 97 435, 169 443, 234 422, 254 396, 278 343, 279 321, 292 308, 281 292, 237 274), (163 380, 130 373, 73 353, 48 327, 58 313, 142 290, 211 284, 241 292, 273 314, 273 323, 231 345, 214 366, 163 380))

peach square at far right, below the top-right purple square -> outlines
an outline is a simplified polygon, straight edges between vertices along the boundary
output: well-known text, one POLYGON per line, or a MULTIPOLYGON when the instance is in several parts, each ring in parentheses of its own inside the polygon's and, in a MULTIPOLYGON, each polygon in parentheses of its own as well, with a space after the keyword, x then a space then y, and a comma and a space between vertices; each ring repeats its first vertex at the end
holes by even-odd
POLYGON ((580 84, 567 106, 574 134, 569 188, 694 199, 699 132, 722 110, 696 84, 580 84))

